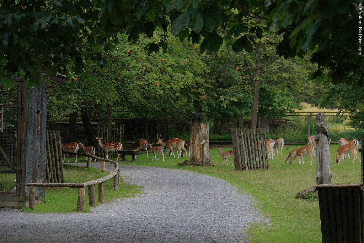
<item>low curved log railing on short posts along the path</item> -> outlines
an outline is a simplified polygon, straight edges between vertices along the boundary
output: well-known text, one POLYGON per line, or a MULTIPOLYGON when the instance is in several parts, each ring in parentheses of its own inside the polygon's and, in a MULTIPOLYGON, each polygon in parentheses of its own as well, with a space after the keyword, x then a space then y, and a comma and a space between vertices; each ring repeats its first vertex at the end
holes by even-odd
MULTIPOLYGON (((68 153, 68 152, 63 152, 68 153)), ((81 153, 68 153, 68 154, 76 154, 78 156, 91 157, 94 159, 99 159, 106 162, 111 162, 115 165, 114 170, 107 176, 93 180, 86 181, 83 183, 27 183, 29 186, 29 208, 35 208, 35 191, 37 186, 45 186, 45 187, 70 187, 70 188, 78 188, 78 200, 77 200, 77 211, 82 212, 84 207, 84 198, 85 198, 85 188, 88 188, 88 204, 91 207, 96 207, 96 199, 95 199, 95 188, 94 185, 99 185, 99 202, 104 202, 104 182, 114 178, 114 182, 112 183, 112 187, 114 190, 119 190, 120 183, 120 175, 119 175, 119 164, 116 161, 112 161, 111 159, 104 159, 90 154, 81 154, 81 153)))

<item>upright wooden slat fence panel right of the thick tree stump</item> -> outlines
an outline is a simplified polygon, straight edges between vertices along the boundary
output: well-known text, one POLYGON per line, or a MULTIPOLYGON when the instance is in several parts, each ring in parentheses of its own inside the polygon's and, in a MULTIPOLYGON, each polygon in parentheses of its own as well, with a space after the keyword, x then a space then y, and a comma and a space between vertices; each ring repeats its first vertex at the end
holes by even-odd
POLYGON ((235 128, 232 138, 235 169, 269 169, 265 130, 235 128))

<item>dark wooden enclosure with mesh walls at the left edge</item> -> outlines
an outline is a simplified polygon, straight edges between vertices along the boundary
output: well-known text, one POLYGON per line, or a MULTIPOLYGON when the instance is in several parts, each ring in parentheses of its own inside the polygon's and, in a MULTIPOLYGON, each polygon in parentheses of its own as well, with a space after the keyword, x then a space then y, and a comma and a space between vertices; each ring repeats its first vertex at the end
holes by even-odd
MULTIPOLYGON (((14 76, 14 88, 0 89, 0 207, 24 207, 29 198, 25 184, 46 181, 45 75, 39 73, 37 88, 29 88, 23 78, 14 76)), ((64 76, 48 74, 48 78, 64 84, 64 76)), ((32 193, 41 199, 45 189, 32 193)))

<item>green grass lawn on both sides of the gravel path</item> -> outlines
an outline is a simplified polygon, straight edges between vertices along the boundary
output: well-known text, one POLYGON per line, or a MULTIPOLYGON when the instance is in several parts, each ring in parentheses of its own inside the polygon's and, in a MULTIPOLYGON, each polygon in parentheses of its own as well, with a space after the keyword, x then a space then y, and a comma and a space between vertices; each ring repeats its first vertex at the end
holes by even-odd
MULTIPOLYGON (((270 224, 252 225, 248 231, 251 242, 322 242, 318 201, 295 198, 298 192, 316 184, 316 160, 314 159, 312 166, 309 165, 310 158, 308 156, 305 157, 305 165, 298 165, 298 158, 296 158, 292 165, 284 162, 289 151, 297 147, 300 146, 284 146, 284 156, 276 155, 273 160, 270 160, 270 169, 253 171, 235 171, 233 166, 231 166, 231 158, 228 158, 229 166, 225 165, 222 167, 222 158, 217 149, 210 150, 210 162, 218 165, 214 167, 178 166, 178 163, 183 162, 186 158, 174 159, 173 157, 167 157, 165 162, 162 159, 158 162, 152 162, 152 155, 149 153, 149 158, 147 159, 146 154, 143 152, 137 156, 137 161, 123 164, 159 166, 204 173, 229 181, 236 187, 238 192, 254 196, 256 208, 270 219, 270 224)), ((352 159, 345 159, 340 165, 337 165, 335 163, 337 147, 335 144, 330 145, 332 183, 360 182, 359 161, 356 159, 355 163, 352 164, 352 159)), ((229 149, 231 148, 224 148, 222 151, 229 149)), ((127 156, 127 159, 131 159, 131 157, 127 156)), ((79 162, 85 162, 84 158, 79 157, 79 162)), ((66 171, 67 182, 82 182, 82 179, 78 180, 80 173, 89 174, 90 171, 95 171, 96 177, 102 173, 100 170, 92 168, 67 169, 66 171), (73 170, 75 170, 75 173, 73 173, 73 170), (70 173, 73 173, 73 175, 69 178, 70 173)), ((104 175, 102 174, 102 176, 104 175)), ((94 178, 90 180, 92 179, 94 178)), ((105 196, 108 196, 107 200, 140 193, 140 187, 123 184, 123 182, 119 186, 119 191, 113 191, 112 180, 109 183, 110 185, 105 186, 105 189, 108 188, 105 191, 105 196)), ((59 207, 60 202, 58 200, 60 197, 58 193, 60 192, 58 190, 60 189, 47 191, 45 205, 53 203, 54 207, 59 207), (52 196, 52 193, 55 193, 54 196, 52 196)), ((77 190, 69 189, 65 191, 61 196, 62 201, 74 201, 72 203, 69 202, 68 206, 65 207, 71 207, 72 211, 76 211, 77 190), (71 190, 72 193, 70 192, 71 190), (69 197, 68 194, 70 194, 69 197)), ((87 205, 87 201, 86 193, 85 212, 90 208, 87 205)), ((229 198, 226 198, 226 202, 229 205, 229 198)), ((237 206, 240 208, 236 210, 244 210, 245 205, 229 205, 229 207, 237 206)), ((43 212, 41 211, 42 207, 41 204, 37 204, 35 212, 43 212)), ((67 210, 64 212, 67 212, 67 210)))

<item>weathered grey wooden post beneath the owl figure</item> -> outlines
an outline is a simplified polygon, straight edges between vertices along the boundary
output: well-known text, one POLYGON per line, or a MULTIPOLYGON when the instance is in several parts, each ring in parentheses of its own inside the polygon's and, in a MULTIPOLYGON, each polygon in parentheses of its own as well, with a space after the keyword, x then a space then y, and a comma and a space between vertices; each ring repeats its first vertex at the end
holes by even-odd
POLYGON ((330 149, 327 136, 317 134, 315 142, 317 149, 316 184, 331 184, 330 149))

